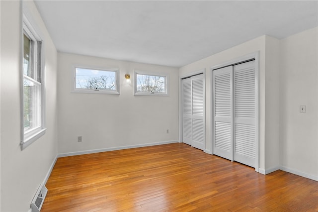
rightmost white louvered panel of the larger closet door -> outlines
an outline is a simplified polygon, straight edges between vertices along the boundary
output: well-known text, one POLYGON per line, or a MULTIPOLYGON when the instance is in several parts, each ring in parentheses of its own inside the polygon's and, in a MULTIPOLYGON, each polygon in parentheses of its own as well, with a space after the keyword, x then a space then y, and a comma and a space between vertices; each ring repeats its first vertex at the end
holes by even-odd
POLYGON ((234 160, 255 167, 255 61, 234 66, 234 160))

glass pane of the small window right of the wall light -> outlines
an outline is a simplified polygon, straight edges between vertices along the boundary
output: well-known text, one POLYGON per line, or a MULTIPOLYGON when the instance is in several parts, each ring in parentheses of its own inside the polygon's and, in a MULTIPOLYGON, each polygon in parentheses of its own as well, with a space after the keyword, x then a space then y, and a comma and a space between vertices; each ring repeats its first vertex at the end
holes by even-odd
POLYGON ((137 74, 137 92, 166 93, 165 77, 137 74))

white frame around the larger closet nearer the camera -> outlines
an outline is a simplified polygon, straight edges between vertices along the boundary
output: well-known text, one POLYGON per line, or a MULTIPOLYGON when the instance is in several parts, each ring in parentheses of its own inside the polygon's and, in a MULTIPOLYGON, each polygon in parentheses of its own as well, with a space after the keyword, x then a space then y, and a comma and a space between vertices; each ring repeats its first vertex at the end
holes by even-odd
POLYGON ((227 62, 224 62, 224 63, 221 63, 221 64, 218 64, 218 65, 215 65, 215 66, 212 66, 211 67, 211 95, 212 95, 212 98, 211 98, 211 102, 210 102, 210 105, 212 106, 212 112, 211 112, 211 116, 210 116, 210 126, 212 127, 211 131, 212 131, 212 136, 211 136, 211 151, 212 153, 214 152, 214 103, 213 103, 213 100, 214 100, 214 91, 213 91, 213 70, 216 70, 216 69, 220 69, 220 68, 223 68, 223 67, 227 67, 227 66, 234 66, 236 64, 239 64, 239 63, 243 63, 243 62, 247 62, 249 60, 255 60, 255 171, 256 172, 259 172, 259 51, 257 52, 253 52, 253 53, 250 53, 248 55, 245 55, 245 56, 241 56, 241 57, 238 57, 238 58, 235 58, 235 59, 232 59, 232 60, 229 60, 227 62))

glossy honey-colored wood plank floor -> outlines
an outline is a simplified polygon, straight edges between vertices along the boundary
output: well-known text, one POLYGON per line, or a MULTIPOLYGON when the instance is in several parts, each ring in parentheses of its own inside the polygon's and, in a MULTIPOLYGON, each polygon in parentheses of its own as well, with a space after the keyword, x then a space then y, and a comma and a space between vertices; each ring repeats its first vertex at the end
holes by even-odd
POLYGON ((318 182, 183 143, 58 158, 41 212, 318 211, 318 182))

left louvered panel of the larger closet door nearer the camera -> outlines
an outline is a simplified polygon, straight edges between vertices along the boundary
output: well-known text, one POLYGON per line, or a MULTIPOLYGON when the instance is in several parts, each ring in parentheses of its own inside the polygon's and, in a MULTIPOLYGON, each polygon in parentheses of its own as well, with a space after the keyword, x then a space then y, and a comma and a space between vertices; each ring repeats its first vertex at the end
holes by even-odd
POLYGON ((213 154, 233 161, 232 66, 213 71, 213 154))

